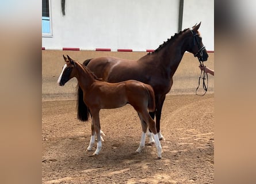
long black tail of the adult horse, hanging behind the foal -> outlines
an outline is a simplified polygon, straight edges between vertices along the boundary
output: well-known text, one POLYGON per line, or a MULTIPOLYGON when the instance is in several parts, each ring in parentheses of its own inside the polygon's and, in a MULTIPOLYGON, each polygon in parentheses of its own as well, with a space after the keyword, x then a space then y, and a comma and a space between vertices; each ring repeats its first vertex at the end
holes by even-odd
POLYGON ((83 101, 83 90, 77 85, 77 118, 80 121, 88 121, 90 110, 83 101))

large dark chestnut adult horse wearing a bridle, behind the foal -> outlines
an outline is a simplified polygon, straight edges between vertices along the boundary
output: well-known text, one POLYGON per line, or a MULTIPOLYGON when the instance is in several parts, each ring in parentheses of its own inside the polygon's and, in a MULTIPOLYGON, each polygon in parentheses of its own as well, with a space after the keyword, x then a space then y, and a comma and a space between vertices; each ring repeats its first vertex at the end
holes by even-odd
MULTIPOLYGON (((173 75, 177 70, 182 56, 186 51, 193 53, 201 62, 208 58, 207 51, 202 44, 198 29, 201 22, 191 29, 184 29, 176 33, 160 45, 154 52, 148 53, 139 60, 125 60, 116 57, 97 57, 88 59, 83 64, 98 78, 107 82, 121 82, 133 79, 151 85, 155 92, 156 107, 150 115, 156 116, 156 130, 160 140, 165 139, 160 131, 160 120, 163 102, 166 94, 173 85, 173 75)), ((78 106, 83 105, 82 90, 78 88, 78 106)), ((82 113, 82 112, 81 112, 82 113)), ((152 136, 150 142, 154 142, 152 136)))

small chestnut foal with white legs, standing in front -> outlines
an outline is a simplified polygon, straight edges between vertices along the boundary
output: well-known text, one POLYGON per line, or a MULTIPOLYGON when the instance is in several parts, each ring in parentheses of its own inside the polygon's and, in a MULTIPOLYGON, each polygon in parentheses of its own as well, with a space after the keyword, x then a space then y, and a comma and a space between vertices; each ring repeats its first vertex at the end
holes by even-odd
POLYGON ((130 104, 139 114, 142 123, 142 140, 136 152, 141 152, 145 145, 147 127, 154 134, 158 158, 161 158, 162 147, 156 132, 155 122, 148 114, 148 110, 155 110, 154 90, 150 85, 139 81, 129 80, 119 83, 108 83, 98 79, 86 66, 75 62, 69 56, 64 57, 62 73, 59 76, 58 83, 64 86, 71 78, 78 80, 78 85, 83 91, 83 102, 86 104, 83 117, 78 118, 83 121, 88 120, 89 110, 92 117, 91 121, 91 140, 87 151, 93 149, 95 133, 97 135, 97 149, 93 155, 98 155, 101 150, 101 128, 100 128, 100 110, 114 109, 130 104), (146 122, 146 123, 145 123, 146 122))

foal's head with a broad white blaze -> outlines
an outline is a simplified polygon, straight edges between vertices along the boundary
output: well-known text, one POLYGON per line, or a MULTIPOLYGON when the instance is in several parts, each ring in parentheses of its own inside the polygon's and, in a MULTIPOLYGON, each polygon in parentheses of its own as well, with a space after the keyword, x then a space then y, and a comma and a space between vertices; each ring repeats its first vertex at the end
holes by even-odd
POLYGON ((62 67, 62 73, 60 74, 58 79, 58 83, 60 86, 64 86, 66 82, 68 82, 71 78, 74 77, 74 74, 72 71, 73 71, 73 68, 75 67, 75 61, 72 60, 68 55, 67 57, 63 55, 63 58, 65 61, 65 64, 62 67))

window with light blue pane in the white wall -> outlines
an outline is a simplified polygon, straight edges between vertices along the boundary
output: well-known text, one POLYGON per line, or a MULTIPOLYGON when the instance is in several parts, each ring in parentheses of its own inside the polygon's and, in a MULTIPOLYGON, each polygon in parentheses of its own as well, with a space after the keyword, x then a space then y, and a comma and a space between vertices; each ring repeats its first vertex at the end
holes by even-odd
POLYGON ((42 35, 52 36, 51 0, 42 0, 42 35))

